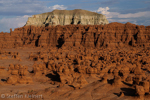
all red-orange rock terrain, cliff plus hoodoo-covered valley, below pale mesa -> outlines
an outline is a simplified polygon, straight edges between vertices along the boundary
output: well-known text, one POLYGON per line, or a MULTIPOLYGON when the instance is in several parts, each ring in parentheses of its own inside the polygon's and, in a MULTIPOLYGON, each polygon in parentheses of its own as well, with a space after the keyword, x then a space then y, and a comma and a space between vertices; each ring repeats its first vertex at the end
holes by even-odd
POLYGON ((150 98, 150 26, 24 26, 0 37, 0 94, 42 94, 43 100, 150 98))

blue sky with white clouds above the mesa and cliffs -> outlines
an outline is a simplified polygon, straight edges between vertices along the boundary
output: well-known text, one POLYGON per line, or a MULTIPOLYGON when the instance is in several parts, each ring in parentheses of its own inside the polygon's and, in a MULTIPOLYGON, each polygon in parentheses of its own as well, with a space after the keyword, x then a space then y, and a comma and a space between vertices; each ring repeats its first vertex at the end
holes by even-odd
POLYGON ((0 0, 0 31, 22 27, 28 17, 54 9, 84 9, 108 21, 150 25, 150 0, 0 0))

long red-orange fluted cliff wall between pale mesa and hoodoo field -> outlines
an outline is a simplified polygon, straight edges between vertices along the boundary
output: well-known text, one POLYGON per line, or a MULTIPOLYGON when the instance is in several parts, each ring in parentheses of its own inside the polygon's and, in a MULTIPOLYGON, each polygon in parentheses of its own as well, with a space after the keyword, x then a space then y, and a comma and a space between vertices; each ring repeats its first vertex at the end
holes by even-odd
POLYGON ((107 25, 24 26, 0 34, 0 47, 150 47, 150 27, 131 23, 107 25))

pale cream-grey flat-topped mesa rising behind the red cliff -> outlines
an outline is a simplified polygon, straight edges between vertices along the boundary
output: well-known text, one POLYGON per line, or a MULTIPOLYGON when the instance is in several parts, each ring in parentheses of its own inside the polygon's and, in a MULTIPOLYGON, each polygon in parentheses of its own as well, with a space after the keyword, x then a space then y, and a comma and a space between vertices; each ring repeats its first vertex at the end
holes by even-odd
POLYGON ((54 10, 48 13, 33 15, 28 18, 25 26, 48 26, 48 25, 104 25, 108 20, 102 14, 81 9, 75 10, 54 10))

